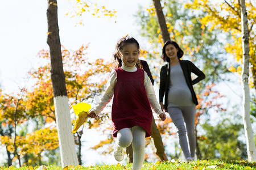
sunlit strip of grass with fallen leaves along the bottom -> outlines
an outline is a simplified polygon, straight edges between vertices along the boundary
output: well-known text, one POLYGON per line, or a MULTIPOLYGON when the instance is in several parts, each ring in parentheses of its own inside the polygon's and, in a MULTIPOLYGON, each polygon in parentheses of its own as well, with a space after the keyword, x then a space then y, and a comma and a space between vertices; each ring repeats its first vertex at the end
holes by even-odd
MULTIPOLYGON (((48 167, 40 167, 41 170, 93 170, 93 169, 100 169, 100 170, 115 170, 115 169, 131 169, 132 164, 115 164, 115 165, 96 165, 96 166, 90 166, 90 167, 84 167, 84 166, 69 166, 69 167, 55 167, 53 165, 49 165, 48 167)), ((0 167, 0 169, 8 169, 8 170, 35 170, 39 167, 0 167)), ((183 170, 183 169, 256 169, 256 162, 247 162, 246 160, 234 160, 234 161, 222 161, 222 160, 197 160, 193 162, 164 162, 164 163, 144 163, 142 170, 146 169, 156 169, 156 170, 166 170, 166 169, 175 169, 175 170, 183 170)))

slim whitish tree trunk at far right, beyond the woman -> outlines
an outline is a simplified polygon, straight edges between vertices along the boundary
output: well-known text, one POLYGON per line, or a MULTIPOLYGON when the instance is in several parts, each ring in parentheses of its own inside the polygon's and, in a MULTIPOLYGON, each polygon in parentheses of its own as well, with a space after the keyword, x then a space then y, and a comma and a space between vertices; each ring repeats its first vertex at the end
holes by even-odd
POLYGON ((246 137, 246 147, 247 155, 249 161, 256 161, 256 149, 254 143, 253 130, 251 129, 250 121, 250 87, 248 83, 249 77, 249 65, 250 65, 250 56, 249 56, 249 32, 247 24, 247 12, 245 7, 245 0, 240 0, 241 8, 241 24, 242 24, 242 90, 243 90, 243 125, 245 128, 245 137, 246 137))

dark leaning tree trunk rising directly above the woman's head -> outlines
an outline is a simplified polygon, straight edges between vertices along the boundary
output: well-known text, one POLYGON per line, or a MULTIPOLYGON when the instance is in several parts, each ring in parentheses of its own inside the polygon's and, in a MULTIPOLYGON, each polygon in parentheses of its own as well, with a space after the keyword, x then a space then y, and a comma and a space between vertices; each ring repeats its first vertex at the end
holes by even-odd
POLYGON ((171 40, 167 25, 166 25, 166 19, 164 18, 163 8, 161 6, 160 0, 153 0, 153 3, 155 6, 156 16, 158 18, 158 24, 160 27, 160 32, 162 35, 163 42, 171 40))

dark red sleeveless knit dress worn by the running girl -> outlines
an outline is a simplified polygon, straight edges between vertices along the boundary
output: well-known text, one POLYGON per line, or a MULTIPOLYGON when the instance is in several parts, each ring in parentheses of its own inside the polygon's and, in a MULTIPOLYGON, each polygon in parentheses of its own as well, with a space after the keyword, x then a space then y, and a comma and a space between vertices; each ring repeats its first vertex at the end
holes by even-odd
POLYGON ((115 69, 117 83, 112 104, 113 137, 123 128, 141 126, 151 135, 152 110, 144 87, 144 70, 128 72, 115 69))

